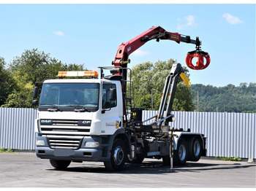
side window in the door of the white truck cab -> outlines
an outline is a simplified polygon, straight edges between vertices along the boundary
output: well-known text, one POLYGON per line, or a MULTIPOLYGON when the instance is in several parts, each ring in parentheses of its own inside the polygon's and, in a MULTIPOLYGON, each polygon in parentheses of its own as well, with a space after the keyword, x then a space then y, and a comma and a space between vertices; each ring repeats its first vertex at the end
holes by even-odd
POLYGON ((102 85, 102 109, 109 109, 116 106, 116 101, 110 101, 110 89, 115 89, 116 85, 113 84, 103 84, 102 85))

